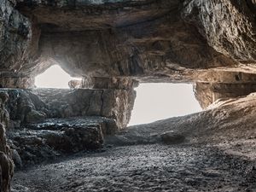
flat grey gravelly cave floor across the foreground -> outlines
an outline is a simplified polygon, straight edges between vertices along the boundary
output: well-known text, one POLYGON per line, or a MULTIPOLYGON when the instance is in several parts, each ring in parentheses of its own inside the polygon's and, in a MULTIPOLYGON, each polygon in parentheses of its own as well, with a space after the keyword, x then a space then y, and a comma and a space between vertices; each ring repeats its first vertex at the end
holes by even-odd
POLYGON ((218 148, 134 145, 105 148, 15 173, 13 192, 256 191, 252 162, 218 148))

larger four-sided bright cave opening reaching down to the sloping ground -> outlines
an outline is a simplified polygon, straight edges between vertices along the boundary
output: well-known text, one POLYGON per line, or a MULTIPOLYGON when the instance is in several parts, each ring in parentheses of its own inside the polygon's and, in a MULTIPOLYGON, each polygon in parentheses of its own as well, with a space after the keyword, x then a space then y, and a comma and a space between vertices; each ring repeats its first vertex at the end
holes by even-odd
POLYGON ((140 84, 136 90, 129 125, 148 124, 201 111, 192 84, 140 84))

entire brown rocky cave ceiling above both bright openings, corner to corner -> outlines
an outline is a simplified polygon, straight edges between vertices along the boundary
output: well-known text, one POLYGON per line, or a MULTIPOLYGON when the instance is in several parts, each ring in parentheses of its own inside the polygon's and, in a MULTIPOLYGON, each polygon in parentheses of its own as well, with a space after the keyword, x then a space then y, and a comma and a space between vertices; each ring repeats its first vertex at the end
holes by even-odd
POLYGON ((1 77, 252 83, 255 0, 2 0, 1 77), (240 78, 237 78, 240 77, 240 78))

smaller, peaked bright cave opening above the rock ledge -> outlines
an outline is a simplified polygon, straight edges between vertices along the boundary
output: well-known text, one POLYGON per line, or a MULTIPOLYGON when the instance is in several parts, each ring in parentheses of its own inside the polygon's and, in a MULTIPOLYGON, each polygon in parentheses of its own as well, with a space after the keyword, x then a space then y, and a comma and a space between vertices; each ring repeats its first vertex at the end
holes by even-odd
POLYGON ((81 79, 73 78, 68 73, 66 73, 60 66, 53 65, 49 67, 44 73, 39 74, 35 78, 35 85, 38 88, 67 89, 69 88, 68 82, 70 80, 81 79))

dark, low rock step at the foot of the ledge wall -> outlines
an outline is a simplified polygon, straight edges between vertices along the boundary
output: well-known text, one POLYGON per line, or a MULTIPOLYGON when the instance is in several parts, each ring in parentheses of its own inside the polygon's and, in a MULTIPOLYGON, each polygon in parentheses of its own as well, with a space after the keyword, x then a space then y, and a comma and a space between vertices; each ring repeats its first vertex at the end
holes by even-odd
POLYGON ((8 138, 15 165, 21 167, 102 148, 104 135, 114 126, 113 119, 103 117, 45 119, 9 131, 8 138))

